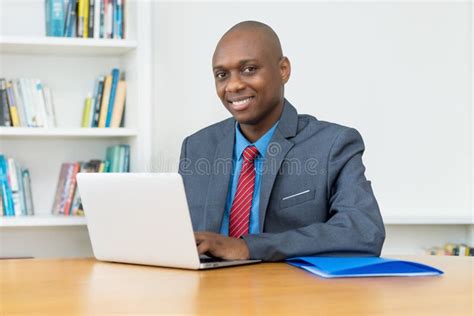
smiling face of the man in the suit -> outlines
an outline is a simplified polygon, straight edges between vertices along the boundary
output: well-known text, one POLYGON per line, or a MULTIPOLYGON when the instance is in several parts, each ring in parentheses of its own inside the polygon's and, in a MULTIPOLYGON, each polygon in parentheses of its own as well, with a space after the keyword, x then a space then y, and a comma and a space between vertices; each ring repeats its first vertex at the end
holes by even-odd
POLYGON ((212 64, 217 95, 241 128, 271 128, 290 75, 278 38, 261 28, 231 30, 219 41, 212 64))

